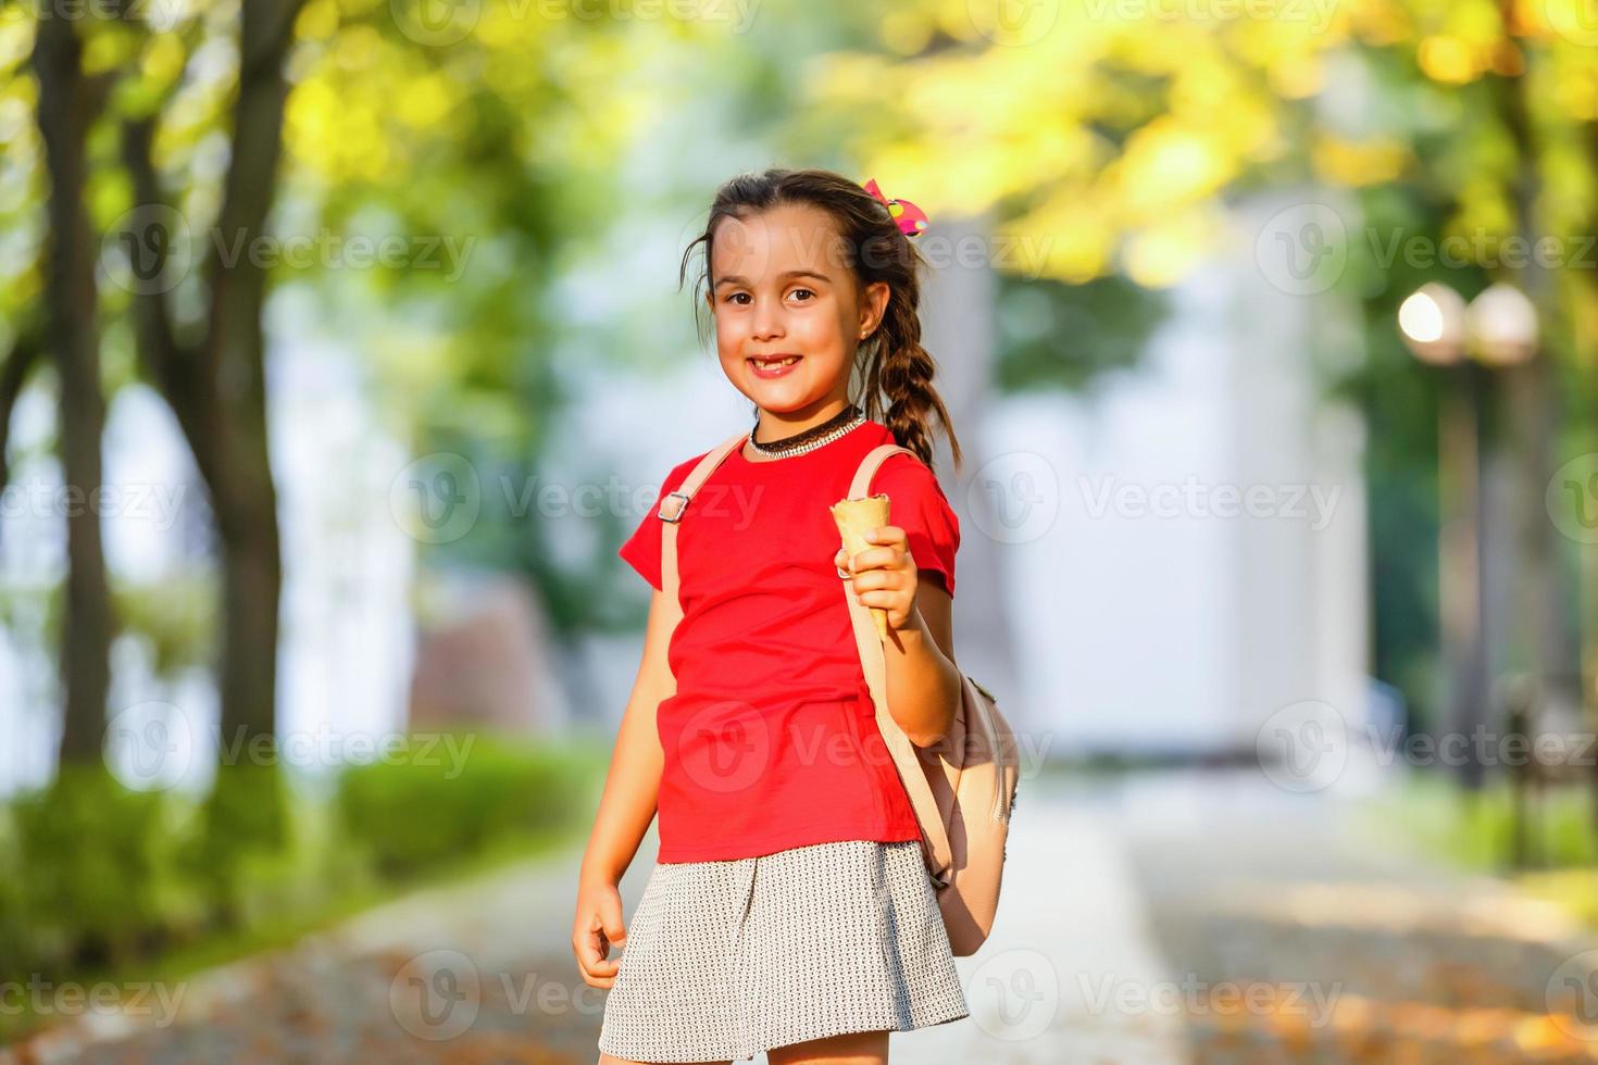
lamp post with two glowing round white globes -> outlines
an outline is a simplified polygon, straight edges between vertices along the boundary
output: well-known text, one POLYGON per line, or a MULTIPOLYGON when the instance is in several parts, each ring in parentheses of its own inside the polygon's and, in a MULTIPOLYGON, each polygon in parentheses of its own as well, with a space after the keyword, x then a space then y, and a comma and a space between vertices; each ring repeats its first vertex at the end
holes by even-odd
POLYGON ((1462 736, 1461 779, 1475 790, 1485 776, 1477 733, 1486 725, 1488 698, 1478 422, 1489 367, 1518 366, 1536 353, 1537 315, 1509 284, 1489 286, 1467 307, 1459 292, 1430 281, 1400 305, 1398 332, 1417 359, 1448 374, 1438 412, 1438 597, 1448 726, 1462 736))

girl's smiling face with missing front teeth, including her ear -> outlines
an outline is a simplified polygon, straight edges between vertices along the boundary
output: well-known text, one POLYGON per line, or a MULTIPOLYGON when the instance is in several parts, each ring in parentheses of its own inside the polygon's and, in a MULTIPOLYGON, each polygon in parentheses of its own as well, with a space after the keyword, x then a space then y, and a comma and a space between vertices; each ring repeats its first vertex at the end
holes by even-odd
MULTIPOLYGON (((706 302, 721 369, 783 431, 825 422, 849 399, 855 348, 882 319, 888 286, 858 291, 833 219, 783 204, 722 219, 706 302), (797 356, 788 366, 761 359, 797 356)), ((762 436, 770 433, 762 430, 762 436)))

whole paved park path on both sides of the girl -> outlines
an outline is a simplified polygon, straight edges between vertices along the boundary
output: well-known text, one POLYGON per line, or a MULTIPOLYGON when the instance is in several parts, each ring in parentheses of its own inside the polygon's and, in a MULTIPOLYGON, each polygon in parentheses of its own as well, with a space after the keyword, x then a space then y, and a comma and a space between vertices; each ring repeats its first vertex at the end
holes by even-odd
MULTIPOLYGON (((895 1060, 1598 1060, 1598 1027, 1547 1016, 1595 940, 1379 849, 1334 797, 1246 773, 1021 787, 999 921, 957 963, 972 1017, 895 1035, 895 1060)), ((622 885, 628 913, 654 853, 622 885)), ((66 1025, 0 1065, 591 1063, 604 993, 566 945, 577 856, 417 893, 168 988, 171 1022, 66 1025)))

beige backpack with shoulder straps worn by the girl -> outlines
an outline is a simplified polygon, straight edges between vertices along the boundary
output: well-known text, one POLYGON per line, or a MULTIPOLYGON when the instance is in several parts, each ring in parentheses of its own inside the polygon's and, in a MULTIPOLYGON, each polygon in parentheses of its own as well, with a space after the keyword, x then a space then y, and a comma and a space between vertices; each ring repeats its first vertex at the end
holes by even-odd
MULTIPOLYGON (((735 447, 741 447, 748 433, 722 441, 700 460, 676 492, 662 500, 662 588, 666 600, 679 612, 676 522, 711 471, 735 447)), ((873 449, 855 471, 849 498, 865 498, 871 477, 895 452, 920 461, 916 452, 896 444, 873 449)), ((877 711, 877 730, 893 755, 893 765, 920 824, 922 857, 943 912, 943 926, 949 932, 949 947, 957 958, 965 958, 976 953, 988 939, 999 909, 1005 840, 1020 778, 1015 734, 992 693, 962 672, 960 707, 949 734, 932 747, 912 744, 888 714, 887 659, 871 612, 855 596, 853 581, 845 580, 842 584, 860 664, 877 711)))

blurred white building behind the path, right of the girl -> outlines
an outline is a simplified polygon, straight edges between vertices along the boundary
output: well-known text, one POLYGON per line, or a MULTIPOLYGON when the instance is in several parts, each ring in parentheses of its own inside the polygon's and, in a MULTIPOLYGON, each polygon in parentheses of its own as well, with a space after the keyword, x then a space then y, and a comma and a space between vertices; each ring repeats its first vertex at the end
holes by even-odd
POLYGON ((1139 369, 988 420, 967 490, 1008 506, 1015 703, 1055 754, 1251 754, 1302 703, 1363 722, 1361 422, 1315 380, 1331 297, 1256 260, 1270 214, 1175 291, 1139 369))

